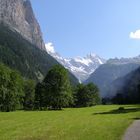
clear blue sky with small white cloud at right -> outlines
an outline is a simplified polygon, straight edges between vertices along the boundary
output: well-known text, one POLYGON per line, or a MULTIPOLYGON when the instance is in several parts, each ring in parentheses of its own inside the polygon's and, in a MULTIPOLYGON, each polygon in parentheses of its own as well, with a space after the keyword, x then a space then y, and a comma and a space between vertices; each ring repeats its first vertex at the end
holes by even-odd
POLYGON ((31 2, 44 41, 52 42, 63 57, 89 53, 103 58, 140 54, 140 0, 31 2))

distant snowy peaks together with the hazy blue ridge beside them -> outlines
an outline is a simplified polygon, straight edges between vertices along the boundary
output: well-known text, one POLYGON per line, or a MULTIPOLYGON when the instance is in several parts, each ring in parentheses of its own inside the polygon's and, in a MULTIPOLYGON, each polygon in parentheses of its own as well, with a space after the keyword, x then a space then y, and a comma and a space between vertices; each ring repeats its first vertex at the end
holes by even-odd
POLYGON ((125 86, 125 76, 140 67, 140 56, 105 60, 96 54, 89 54, 86 57, 63 58, 54 50, 52 43, 46 44, 46 50, 80 82, 95 83, 103 98, 114 97, 118 89, 125 86))

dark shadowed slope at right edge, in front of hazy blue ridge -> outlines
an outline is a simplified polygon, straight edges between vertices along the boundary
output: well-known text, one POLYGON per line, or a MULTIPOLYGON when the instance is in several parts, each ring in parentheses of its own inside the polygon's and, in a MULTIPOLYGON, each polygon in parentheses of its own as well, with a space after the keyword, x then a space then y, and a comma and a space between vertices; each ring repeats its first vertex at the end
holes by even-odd
POLYGON ((140 101, 140 67, 117 79, 110 92, 115 93, 112 97, 113 103, 138 104, 140 101))

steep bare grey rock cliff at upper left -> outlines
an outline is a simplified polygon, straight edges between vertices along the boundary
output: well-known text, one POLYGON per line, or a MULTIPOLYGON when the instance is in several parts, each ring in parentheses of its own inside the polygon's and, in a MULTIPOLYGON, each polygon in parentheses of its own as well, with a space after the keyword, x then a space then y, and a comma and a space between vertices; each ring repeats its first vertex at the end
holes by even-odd
POLYGON ((19 32, 40 49, 45 49, 40 26, 29 0, 0 0, 0 22, 19 32))

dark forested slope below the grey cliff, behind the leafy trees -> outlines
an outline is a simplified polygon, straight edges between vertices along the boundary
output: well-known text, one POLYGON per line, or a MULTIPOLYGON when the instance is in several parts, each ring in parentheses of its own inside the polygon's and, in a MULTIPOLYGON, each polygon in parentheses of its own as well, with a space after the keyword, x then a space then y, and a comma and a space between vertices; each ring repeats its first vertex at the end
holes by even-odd
MULTIPOLYGON (((48 70, 59 64, 47 52, 32 45, 18 32, 0 24, 0 62, 18 70, 23 77, 41 81, 48 70)), ((71 83, 78 80, 69 72, 71 83)))

